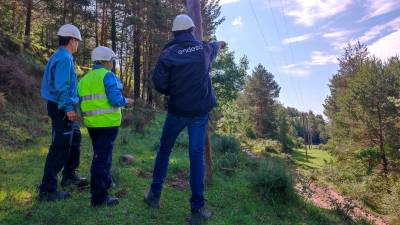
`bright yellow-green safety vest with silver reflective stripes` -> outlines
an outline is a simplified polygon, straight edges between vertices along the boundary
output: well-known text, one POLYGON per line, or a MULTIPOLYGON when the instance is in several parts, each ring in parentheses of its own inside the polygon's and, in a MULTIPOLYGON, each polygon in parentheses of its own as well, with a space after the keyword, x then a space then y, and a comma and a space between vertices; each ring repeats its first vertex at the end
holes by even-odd
POLYGON ((109 102, 104 87, 104 77, 110 71, 99 68, 88 72, 78 84, 83 123, 86 127, 118 127, 121 125, 121 109, 109 102))

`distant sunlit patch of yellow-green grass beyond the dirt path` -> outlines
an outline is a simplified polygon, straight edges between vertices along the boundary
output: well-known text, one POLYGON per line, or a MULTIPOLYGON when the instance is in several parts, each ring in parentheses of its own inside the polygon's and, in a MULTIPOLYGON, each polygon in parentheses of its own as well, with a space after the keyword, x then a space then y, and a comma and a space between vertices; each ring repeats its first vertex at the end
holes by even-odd
POLYGON ((295 149, 293 151, 293 160, 296 165, 304 170, 321 169, 327 162, 333 158, 328 151, 319 150, 316 148, 295 149))

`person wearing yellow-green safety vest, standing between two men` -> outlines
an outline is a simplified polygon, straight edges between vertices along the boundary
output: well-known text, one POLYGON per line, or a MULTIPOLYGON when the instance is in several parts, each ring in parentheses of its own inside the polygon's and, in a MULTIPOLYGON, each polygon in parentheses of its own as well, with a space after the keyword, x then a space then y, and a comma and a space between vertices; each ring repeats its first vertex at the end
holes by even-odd
POLYGON ((122 95, 122 83, 111 72, 116 58, 110 48, 95 48, 92 52, 93 70, 78 84, 83 123, 88 129, 94 151, 90 169, 92 206, 113 206, 119 203, 118 198, 108 193, 112 184, 112 150, 121 125, 121 107, 131 106, 133 100, 122 95))

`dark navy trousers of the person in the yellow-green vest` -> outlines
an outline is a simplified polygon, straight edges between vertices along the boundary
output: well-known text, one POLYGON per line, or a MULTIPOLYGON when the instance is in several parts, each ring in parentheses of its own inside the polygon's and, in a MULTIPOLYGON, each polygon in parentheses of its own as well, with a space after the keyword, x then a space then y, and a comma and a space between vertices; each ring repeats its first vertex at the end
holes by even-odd
POLYGON ((118 127, 88 128, 93 145, 93 160, 90 168, 90 193, 92 203, 107 199, 111 186, 112 150, 118 135, 118 127))

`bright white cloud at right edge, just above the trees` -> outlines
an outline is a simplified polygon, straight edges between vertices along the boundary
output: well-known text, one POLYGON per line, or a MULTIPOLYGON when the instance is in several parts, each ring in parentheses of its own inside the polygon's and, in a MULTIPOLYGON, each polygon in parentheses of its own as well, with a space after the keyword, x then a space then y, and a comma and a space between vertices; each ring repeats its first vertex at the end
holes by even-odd
POLYGON ((379 39, 368 46, 369 51, 376 57, 386 60, 391 56, 400 56, 400 30, 379 39))

